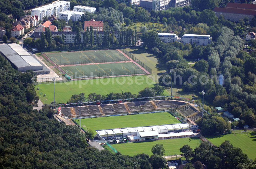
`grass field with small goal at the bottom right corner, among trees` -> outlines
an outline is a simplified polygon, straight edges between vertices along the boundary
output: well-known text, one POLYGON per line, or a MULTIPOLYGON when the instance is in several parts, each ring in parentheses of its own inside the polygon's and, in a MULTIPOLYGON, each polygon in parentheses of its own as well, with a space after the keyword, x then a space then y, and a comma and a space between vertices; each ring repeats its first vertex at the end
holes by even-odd
POLYGON ((227 134, 215 137, 207 137, 214 145, 219 146, 225 140, 229 140, 234 147, 239 147, 252 160, 256 158, 256 132, 227 134), (249 137, 248 137, 248 135, 249 137))

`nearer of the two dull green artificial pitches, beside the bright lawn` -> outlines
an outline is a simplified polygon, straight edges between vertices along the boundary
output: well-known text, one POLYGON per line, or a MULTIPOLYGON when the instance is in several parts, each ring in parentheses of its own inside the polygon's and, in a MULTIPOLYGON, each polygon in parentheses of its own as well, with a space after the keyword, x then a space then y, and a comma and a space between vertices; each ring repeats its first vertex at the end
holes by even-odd
POLYGON ((146 74, 133 62, 62 66, 73 78, 146 74))

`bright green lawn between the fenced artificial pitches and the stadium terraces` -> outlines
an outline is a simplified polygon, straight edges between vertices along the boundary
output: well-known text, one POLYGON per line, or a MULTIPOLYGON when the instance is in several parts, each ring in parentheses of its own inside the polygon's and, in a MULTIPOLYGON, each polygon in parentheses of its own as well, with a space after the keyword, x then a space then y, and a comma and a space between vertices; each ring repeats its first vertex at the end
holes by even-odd
MULTIPOLYGON (((100 78, 89 80, 76 80, 69 82, 57 82, 55 83, 55 101, 57 103, 67 103, 73 94, 84 93, 87 97, 90 93, 96 93, 106 95, 111 92, 121 93, 131 92, 138 94, 139 91, 146 87, 153 87, 154 82, 147 76, 128 76, 118 78, 100 78)), ((54 86, 53 83, 39 84, 35 86, 39 99, 44 104, 50 104, 53 102, 54 86), (43 96, 46 94, 46 96, 43 96)))

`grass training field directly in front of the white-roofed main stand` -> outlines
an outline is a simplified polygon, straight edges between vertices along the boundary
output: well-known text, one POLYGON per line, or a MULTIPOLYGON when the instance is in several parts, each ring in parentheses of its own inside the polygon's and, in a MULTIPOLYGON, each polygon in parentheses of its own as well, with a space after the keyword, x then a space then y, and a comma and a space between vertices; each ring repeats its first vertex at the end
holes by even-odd
POLYGON ((179 149, 188 144, 191 148, 196 148, 200 145, 200 139, 195 138, 174 138, 174 139, 165 139, 157 140, 152 142, 141 142, 141 143, 123 143, 123 144, 112 144, 117 151, 120 151, 122 154, 134 156, 139 153, 145 153, 149 156, 152 155, 151 148, 155 144, 163 144, 165 148, 165 156, 171 156, 174 154, 180 154, 179 149), (189 141, 191 139, 191 141, 189 141))

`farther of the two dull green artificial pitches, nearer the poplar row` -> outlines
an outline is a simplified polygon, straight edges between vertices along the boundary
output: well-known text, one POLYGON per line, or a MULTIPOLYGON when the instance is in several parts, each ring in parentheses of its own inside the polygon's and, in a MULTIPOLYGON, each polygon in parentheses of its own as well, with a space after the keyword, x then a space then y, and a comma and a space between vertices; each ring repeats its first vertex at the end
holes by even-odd
POLYGON ((122 53, 117 50, 77 51, 45 53, 57 65, 73 65, 88 63, 104 63, 128 61, 122 53))

